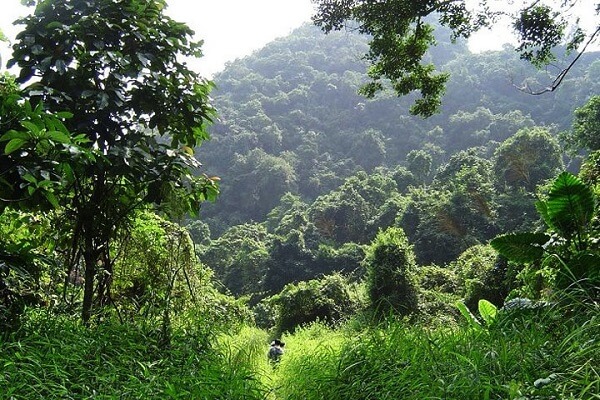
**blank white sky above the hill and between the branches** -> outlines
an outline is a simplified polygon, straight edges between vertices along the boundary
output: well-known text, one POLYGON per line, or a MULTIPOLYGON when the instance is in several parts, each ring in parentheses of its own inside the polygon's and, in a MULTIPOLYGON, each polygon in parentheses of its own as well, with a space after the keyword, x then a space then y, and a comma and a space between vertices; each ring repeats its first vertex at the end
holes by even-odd
MULTIPOLYGON (((220 71, 226 62, 249 55, 275 38, 289 34, 313 13, 311 0, 167 0, 167 13, 185 22, 203 39, 202 57, 191 67, 206 77, 220 71)), ((583 0, 586 9, 593 10, 596 0, 583 0)), ((504 2, 501 2, 504 4, 504 2)), ((583 6, 582 6, 583 7, 583 6)), ((20 0, 0 0, 0 29, 10 39, 19 31, 12 22, 33 11, 20 0)), ((587 14, 597 18, 593 12, 587 14)), ((595 22, 597 23, 597 22, 595 22)), ((500 49, 510 35, 498 28, 482 31, 470 42, 472 51, 500 49)), ((0 43, 2 69, 10 57, 10 48, 0 43)))

